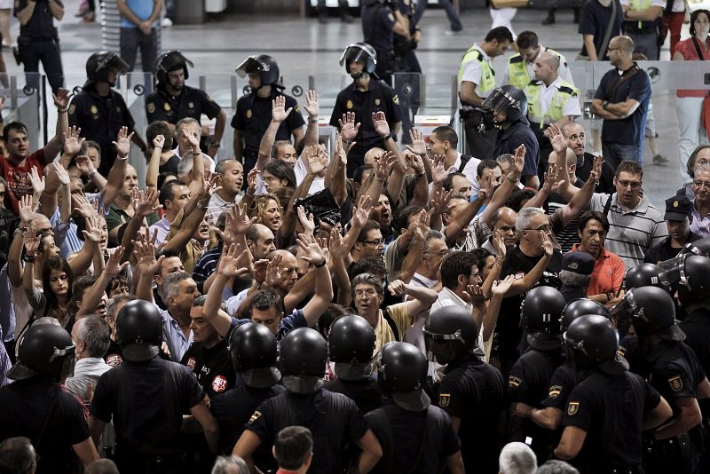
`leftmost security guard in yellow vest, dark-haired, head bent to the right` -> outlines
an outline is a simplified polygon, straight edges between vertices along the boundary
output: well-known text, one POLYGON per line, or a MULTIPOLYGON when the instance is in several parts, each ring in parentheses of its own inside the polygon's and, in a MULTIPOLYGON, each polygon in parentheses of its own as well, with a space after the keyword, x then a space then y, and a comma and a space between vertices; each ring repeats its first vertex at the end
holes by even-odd
POLYGON ((496 130, 493 112, 484 107, 485 98, 495 88, 493 58, 501 56, 513 43, 513 35, 505 27, 493 28, 483 43, 474 43, 461 58, 459 75, 459 115, 466 130, 469 154, 478 160, 495 158, 496 130))

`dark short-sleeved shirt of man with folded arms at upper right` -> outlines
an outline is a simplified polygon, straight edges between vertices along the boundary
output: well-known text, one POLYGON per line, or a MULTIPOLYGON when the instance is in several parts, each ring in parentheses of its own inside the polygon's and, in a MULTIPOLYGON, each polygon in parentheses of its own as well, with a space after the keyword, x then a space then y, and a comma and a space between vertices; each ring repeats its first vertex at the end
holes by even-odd
POLYGON ((620 120, 604 120, 602 139, 622 145, 638 145, 643 142, 649 101, 651 100, 651 79, 636 63, 622 75, 616 67, 602 76, 596 88, 595 99, 608 100, 611 104, 634 99, 639 103, 633 114, 620 120), (618 81, 623 81, 616 86, 618 81))

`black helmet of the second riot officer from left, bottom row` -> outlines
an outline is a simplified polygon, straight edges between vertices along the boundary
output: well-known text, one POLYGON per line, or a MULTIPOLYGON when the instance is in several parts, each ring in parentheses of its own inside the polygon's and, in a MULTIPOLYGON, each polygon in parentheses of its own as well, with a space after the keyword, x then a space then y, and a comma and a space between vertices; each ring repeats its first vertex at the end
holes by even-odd
POLYGON ((158 355, 162 344, 162 316, 155 304, 129 301, 116 316, 116 340, 123 358, 143 362, 158 355))

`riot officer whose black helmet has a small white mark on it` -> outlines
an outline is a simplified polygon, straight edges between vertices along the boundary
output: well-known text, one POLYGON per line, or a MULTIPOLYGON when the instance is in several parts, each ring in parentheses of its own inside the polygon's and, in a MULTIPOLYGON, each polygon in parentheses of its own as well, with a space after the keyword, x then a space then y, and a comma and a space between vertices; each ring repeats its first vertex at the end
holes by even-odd
MULTIPOLYGON (((520 356, 510 369, 508 396, 513 413, 517 402, 540 408, 553 373, 564 362, 560 329, 564 304, 564 296, 552 287, 533 288, 525 296, 520 318, 532 349, 520 356)), ((533 438, 530 447, 538 462, 545 462, 556 446, 556 438, 533 422, 519 421, 515 417, 510 420, 509 441, 533 438)))

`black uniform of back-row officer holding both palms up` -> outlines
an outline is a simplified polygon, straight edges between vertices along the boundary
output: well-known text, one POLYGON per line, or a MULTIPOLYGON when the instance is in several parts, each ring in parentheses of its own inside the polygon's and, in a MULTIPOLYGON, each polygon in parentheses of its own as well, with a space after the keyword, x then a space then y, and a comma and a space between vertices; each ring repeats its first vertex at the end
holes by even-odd
MULTIPOLYGON (((379 59, 377 63, 379 64, 379 59)), ((360 122, 358 135, 355 138, 357 144, 348 153, 347 175, 348 178, 352 178, 355 170, 365 164, 367 150, 375 146, 384 147, 383 139, 375 132, 372 115, 375 112, 384 112, 390 130, 395 123, 402 121, 402 117, 397 94, 389 85, 374 77, 370 77, 367 91, 358 91, 356 83, 353 82, 338 93, 333 115, 330 115, 330 125, 339 127, 338 120, 342 120, 346 112, 353 112, 355 122, 360 122)))

